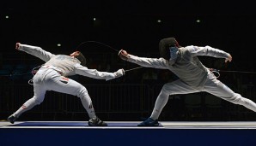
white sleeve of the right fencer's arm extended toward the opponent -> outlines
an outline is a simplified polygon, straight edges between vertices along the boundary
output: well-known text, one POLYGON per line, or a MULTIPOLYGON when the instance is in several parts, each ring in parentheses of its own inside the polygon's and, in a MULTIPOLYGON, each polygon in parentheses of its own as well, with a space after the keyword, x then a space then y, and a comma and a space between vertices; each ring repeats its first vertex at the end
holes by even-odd
POLYGON ((161 68, 166 69, 168 65, 168 61, 163 58, 145 58, 145 57, 138 57, 136 55, 130 55, 127 61, 131 61, 136 63, 137 65, 143 67, 154 67, 154 68, 161 68))

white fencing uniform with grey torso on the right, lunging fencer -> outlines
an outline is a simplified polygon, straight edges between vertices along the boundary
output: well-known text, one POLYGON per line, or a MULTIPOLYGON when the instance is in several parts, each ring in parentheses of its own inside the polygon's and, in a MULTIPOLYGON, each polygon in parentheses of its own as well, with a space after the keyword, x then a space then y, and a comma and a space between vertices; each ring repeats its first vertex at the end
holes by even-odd
POLYGON ((228 86, 216 79, 216 76, 210 72, 209 68, 204 67, 197 55, 208 55, 216 58, 228 58, 229 54, 214 49, 210 46, 186 46, 180 47, 175 60, 165 60, 164 58, 145 58, 135 55, 128 55, 128 60, 143 67, 155 67, 168 69, 177 75, 180 79, 163 85, 162 91, 157 96, 155 108, 150 116, 157 120, 162 112, 162 108, 168 102, 169 95, 188 94, 199 91, 205 91, 222 99, 243 105, 256 112, 256 104, 235 93, 228 86))

